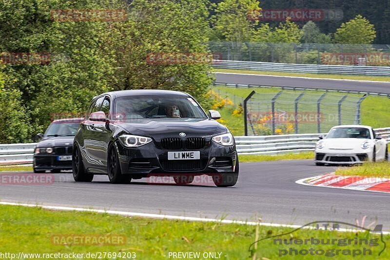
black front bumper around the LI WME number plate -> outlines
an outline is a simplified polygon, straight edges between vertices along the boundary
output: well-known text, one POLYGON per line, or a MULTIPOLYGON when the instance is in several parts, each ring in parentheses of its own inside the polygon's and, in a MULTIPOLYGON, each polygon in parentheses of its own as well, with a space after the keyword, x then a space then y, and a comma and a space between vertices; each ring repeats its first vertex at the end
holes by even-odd
POLYGON ((211 141, 211 138, 206 141, 203 149, 194 150, 200 151, 199 160, 168 160, 168 152, 171 150, 162 149, 155 141, 137 148, 124 147, 119 141, 116 142, 116 145, 122 174, 139 175, 140 177, 146 177, 149 174, 231 173, 234 172, 238 160, 235 145, 222 146, 211 141))

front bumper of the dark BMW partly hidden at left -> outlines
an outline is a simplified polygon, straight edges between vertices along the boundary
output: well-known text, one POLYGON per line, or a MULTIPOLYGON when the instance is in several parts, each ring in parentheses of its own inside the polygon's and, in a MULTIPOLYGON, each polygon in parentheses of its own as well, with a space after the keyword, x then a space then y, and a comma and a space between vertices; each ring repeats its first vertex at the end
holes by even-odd
POLYGON ((72 160, 58 160, 59 156, 72 156, 70 154, 35 154, 33 166, 36 170, 71 170, 72 160))

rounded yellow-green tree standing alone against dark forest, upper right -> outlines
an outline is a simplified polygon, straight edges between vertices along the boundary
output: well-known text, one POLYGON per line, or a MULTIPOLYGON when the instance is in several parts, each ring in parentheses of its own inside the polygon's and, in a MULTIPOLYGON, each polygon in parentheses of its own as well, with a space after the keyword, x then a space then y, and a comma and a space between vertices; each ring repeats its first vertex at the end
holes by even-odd
POLYGON ((361 15, 341 24, 334 34, 335 42, 343 44, 371 44, 375 37, 374 25, 361 15))

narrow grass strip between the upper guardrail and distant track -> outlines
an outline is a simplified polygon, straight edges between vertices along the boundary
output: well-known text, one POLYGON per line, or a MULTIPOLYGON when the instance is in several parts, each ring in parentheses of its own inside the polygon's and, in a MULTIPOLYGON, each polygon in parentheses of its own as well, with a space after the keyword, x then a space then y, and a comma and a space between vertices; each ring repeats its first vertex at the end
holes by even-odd
POLYGON ((226 73, 239 73, 239 74, 257 74, 257 75, 305 77, 305 78, 317 78, 317 79, 390 81, 389 77, 380 77, 380 76, 340 75, 340 74, 315 74, 315 73, 240 70, 240 69, 216 69, 216 68, 213 71, 214 72, 226 72, 226 73))

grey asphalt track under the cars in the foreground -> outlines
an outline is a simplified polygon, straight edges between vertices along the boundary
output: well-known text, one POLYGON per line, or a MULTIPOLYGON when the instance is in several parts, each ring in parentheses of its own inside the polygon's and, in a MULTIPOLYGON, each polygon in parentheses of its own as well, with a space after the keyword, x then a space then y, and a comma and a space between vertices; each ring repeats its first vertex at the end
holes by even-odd
MULTIPOLYGON (((330 173, 334 167, 312 160, 240 164, 236 186, 151 185, 147 179, 110 184, 107 176, 76 183, 69 173, 56 174, 49 185, 1 185, 2 201, 189 217, 304 224, 316 220, 366 223, 377 220, 390 229, 390 196, 386 193, 305 186, 295 181, 330 173)), ((14 173, 19 174, 19 173, 14 173)))

